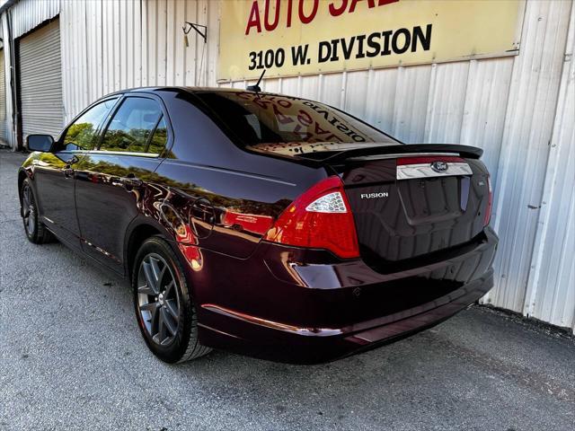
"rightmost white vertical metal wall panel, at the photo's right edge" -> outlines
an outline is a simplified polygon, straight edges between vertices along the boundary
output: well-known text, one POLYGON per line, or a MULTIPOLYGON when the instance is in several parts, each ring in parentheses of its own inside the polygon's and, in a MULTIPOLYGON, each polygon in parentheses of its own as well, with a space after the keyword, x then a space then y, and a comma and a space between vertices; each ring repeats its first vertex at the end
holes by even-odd
POLYGON ((575 8, 524 313, 575 332, 575 8))

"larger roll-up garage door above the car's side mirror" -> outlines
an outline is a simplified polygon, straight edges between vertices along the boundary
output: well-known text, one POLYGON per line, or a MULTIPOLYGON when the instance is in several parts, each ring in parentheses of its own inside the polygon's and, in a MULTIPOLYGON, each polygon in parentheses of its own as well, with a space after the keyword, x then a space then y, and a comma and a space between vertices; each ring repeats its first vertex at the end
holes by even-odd
POLYGON ((57 136, 64 123, 58 21, 22 37, 18 52, 22 136, 24 140, 31 133, 57 136))

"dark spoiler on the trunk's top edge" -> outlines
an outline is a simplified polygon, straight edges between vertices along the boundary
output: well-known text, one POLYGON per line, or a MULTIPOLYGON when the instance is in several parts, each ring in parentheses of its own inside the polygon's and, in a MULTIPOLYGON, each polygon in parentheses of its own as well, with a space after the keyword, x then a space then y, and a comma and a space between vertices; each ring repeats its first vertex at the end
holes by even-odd
POLYGON ((297 158, 315 160, 321 162, 337 163, 352 158, 376 156, 376 155, 394 155, 394 154, 448 154, 459 155, 469 159, 479 159, 483 150, 476 146, 469 145, 451 145, 451 144, 397 144, 367 146, 366 148, 353 148, 343 150, 337 153, 306 153, 298 154, 297 158))

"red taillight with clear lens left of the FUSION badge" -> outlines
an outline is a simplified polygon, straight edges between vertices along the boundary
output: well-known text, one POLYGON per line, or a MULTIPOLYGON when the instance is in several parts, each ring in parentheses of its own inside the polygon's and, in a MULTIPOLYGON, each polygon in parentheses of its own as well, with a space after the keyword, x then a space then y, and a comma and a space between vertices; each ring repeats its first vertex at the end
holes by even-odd
POLYGON ((326 178, 296 198, 266 234, 266 240, 359 257, 358 235, 343 183, 326 178))

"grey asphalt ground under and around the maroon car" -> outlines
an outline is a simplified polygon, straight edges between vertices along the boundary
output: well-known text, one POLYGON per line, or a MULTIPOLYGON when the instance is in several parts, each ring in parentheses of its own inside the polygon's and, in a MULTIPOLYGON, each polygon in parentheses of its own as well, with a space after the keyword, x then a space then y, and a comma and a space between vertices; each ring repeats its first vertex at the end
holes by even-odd
POLYGON ((128 284, 28 242, 0 151, 0 429, 573 430, 575 340, 474 306, 327 365, 158 361, 128 284))

